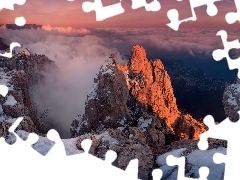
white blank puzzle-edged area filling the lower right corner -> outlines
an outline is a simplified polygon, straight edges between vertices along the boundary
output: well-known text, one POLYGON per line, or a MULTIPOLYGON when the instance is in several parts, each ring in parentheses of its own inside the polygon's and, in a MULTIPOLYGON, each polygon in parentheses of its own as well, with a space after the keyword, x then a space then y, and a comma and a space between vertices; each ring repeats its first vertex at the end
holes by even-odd
MULTIPOLYGON (((240 111, 238 111, 240 115, 240 111)), ((215 124, 212 116, 206 116, 204 123, 208 126, 209 130, 200 135, 198 147, 201 150, 208 148, 208 138, 227 140, 227 154, 216 153, 213 156, 213 161, 217 164, 225 163, 224 179, 240 179, 239 175, 239 162, 240 162, 240 121, 231 122, 229 118, 226 118, 219 124, 215 124)))

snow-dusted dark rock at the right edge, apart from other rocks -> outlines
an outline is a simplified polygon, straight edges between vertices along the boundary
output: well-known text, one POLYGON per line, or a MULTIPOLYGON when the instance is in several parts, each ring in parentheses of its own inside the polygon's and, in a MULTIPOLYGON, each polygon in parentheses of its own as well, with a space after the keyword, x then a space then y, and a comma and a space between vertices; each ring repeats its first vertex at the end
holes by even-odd
POLYGON ((240 79, 236 79, 234 84, 228 85, 223 94, 223 105, 226 117, 231 121, 238 121, 240 110, 240 79))

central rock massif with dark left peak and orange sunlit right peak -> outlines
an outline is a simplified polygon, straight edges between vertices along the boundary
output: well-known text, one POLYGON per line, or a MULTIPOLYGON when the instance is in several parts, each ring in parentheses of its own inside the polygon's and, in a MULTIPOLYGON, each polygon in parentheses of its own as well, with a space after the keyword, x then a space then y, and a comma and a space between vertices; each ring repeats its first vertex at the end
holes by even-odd
POLYGON ((101 67, 85 106, 71 126, 72 137, 108 128, 139 127, 152 146, 198 139, 206 126, 177 107, 171 79, 161 60, 150 61, 142 46, 132 48, 128 64, 101 67))

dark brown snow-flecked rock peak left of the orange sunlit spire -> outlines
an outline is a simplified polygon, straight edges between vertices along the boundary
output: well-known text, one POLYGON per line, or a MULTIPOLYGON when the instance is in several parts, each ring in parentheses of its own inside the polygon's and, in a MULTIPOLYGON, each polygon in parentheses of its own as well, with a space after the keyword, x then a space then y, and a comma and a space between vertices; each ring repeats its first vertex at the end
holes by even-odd
POLYGON ((127 100, 128 88, 122 72, 114 64, 102 66, 87 96, 85 114, 77 116, 72 123, 72 136, 133 126, 127 100))

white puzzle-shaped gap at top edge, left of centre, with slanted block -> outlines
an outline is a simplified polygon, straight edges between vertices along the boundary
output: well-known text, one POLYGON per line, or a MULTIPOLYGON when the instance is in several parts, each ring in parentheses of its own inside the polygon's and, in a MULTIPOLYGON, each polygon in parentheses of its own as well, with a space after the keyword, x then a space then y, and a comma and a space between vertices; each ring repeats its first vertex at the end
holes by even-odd
POLYGON ((84 12, 95 11, 96 12, 96 20, 103 21, 107 18, 119 15, 124 13, 124 9, 121 5, 121 1, 119 3, 103 6, 101 0, 95 0, 94 2, 84 2, 82 4, 82 9, 84 12))

